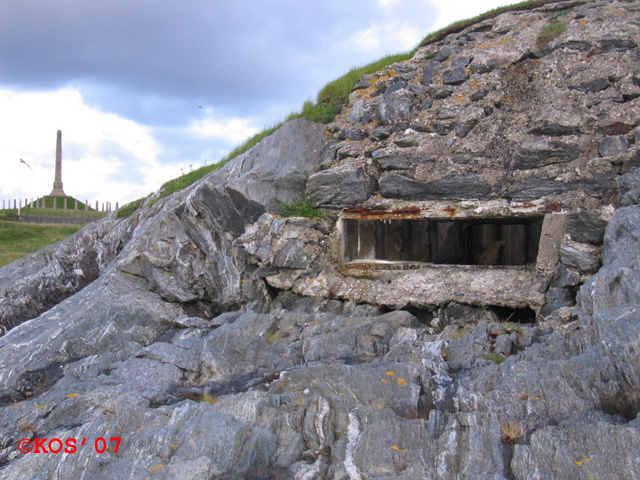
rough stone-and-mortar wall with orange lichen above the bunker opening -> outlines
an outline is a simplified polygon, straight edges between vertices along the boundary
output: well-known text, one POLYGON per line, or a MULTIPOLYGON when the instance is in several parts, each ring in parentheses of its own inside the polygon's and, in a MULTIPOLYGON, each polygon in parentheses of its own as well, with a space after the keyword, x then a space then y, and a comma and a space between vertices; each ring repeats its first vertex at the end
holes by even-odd
POLYGON ((364 169, 361 190, 370 178, 378 183, 370 205, 376 193, 411 202, 544 199, 570 209, 611 203, 635 158, 640 72, 627 21, 635 9, 560 2, 503 14, 364 77, 331 126, 343 141, 322 174, 364 169))

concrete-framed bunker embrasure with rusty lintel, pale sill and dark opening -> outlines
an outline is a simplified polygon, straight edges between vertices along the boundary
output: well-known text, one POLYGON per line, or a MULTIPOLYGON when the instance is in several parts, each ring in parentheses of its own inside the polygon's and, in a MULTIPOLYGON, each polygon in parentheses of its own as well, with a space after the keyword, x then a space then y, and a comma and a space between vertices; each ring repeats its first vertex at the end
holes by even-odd
POLYGON ((558 263, 566 213, 504 201, 345 209, 337 223, 339 271, 352 278, 347 283, 366 280, 371 291, 360 291, 360 301, 378 295, 379 302, 384 295, 374 285, 385 283, 402 304, 455 298, 538 310, 558 263))

